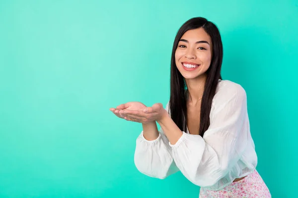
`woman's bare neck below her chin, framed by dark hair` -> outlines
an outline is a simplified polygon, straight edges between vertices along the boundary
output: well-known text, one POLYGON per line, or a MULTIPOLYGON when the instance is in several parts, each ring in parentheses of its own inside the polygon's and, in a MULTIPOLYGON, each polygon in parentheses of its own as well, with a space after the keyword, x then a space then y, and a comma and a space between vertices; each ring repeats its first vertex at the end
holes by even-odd
POLYGON ((187 90, 188 90, 188 100, 187 103, 191 106, 197 106, 201 104, 203 98, 204 88, 206 84, 207 75, 198 76, 194 79, 185 79, 187 90))

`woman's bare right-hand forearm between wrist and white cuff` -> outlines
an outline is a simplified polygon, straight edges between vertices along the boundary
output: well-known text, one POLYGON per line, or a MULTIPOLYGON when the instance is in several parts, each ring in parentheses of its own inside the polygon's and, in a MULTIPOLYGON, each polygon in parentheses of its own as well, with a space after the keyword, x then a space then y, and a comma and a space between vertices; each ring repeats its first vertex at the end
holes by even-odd
POLYGON ((171 145, 176 144, 183 132, 175 124, 169 114, 164 114, 159 120, 158 124, 161 126, 164 135, 167 137, 171 145))

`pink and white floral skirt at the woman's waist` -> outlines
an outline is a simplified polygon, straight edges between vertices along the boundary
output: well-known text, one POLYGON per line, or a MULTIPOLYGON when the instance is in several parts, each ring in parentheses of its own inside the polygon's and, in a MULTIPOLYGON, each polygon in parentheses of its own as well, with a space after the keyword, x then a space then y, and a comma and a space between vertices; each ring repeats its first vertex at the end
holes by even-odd
POLYGON ((271 194, 257 170, 254 170, 219 191, 201 188, 199 198, 271 198, 271 194))

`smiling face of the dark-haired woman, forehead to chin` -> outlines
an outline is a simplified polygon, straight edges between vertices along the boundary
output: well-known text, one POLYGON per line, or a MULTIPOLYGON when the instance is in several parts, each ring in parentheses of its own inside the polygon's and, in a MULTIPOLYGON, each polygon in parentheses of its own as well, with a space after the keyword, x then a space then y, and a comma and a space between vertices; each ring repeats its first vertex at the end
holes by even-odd
POLYGON ((188 30, 181 37, 175 51, 175 62, 185 79, 198 78, 210 67, 212 43, 203 28, 188 30))

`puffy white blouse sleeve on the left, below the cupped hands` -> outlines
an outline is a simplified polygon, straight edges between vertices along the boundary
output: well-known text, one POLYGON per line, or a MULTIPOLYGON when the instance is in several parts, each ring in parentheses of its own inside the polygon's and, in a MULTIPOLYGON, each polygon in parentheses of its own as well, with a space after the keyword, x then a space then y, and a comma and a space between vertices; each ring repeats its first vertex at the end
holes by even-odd
MULTIPOLYGON (((168 103, 165 109, 168 111, 168 103)), ((150 177, 164 179, 179 171, 162 129, 159 130, 158 138, 152 141, 146 140, 141 132, 136 141, 134 160, 137 169, 150 177)))

